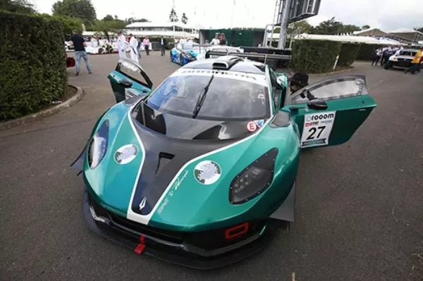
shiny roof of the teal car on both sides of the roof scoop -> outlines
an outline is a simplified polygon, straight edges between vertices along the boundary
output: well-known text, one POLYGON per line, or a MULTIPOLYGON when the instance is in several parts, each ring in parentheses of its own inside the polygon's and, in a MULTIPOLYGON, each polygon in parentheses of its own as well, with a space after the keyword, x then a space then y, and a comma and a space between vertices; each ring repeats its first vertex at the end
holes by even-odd
MULTIPOLYGON (((207 58, 200 61, 192 61, 187 65, 184 65, 183 68, 200 68, 200 69, 213 69, 213 63, 221 62, 223 57, 220 58, 207 58)), ((237 63, 233 64, 228 71, 237 71, 243 73, 255 73, 264 75, 266 65, 264 63, 259 63, 257 61, 243 60, 240 59, 237 63)))

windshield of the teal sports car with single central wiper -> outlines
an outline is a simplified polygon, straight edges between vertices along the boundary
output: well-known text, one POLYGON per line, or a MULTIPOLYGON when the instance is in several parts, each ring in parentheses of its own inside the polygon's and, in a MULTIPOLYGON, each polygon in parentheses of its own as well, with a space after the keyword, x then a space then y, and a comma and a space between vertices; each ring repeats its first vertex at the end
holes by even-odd
MULTIPOLYGON (((148 99, 157 111, 192 118, 195 105, 211 75, 168 77, 148 99)), ((254 120, 269 117, 267 87, 240 79, 215 76, 197 119, 254 120)))

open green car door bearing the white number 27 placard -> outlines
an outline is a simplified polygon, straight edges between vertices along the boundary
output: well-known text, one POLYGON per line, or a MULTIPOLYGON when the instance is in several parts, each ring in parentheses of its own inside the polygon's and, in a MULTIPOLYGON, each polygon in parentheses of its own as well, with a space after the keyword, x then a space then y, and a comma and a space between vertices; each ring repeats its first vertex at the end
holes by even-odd
POLYGON ((298 125, 301 148, 347 142, 376 102, 360 75, 330 77, 286 96, 286 110, 298 125))

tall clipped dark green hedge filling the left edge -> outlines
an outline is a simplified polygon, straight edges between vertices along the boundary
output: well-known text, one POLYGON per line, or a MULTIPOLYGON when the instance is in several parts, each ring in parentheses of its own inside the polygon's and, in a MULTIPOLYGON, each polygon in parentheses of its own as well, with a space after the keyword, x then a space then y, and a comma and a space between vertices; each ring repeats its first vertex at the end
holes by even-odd
POLYGON ((58 20, 0 11, 0 122, 39 111, 67 89, 58 20))

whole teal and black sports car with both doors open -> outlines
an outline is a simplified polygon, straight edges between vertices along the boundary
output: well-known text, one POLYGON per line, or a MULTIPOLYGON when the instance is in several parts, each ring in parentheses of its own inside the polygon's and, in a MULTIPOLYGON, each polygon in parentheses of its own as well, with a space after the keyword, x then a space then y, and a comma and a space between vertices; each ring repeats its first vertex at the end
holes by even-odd
POLYGON ((154 91, 131 61, 109 80, 120 102, 73 164, 85 220, 137 254, 192 268, 239 261, 287 229, 301 149, 347 142, 376 106, 362 76, 288 94, 286 75, 235 56, 192 62, 154 91))

